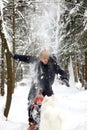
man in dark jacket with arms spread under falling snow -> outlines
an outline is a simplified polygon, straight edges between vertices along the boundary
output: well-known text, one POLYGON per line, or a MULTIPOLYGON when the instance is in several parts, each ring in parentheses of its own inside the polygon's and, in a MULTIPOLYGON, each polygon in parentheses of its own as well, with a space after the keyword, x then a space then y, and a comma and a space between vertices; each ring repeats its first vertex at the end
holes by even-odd
POLYGON ((11 54, 11 56, 15 60, 34 64, 34 75, 28 96, 29 105, 33 103, 39 91, 42 92, 43 96, 53 95, 52 84, 56 74, 60 74, 61 79, 64 80, 69 87, 66 72, 60 68, 55 57, 51 56, 46 49, 40 52, 39 57, 18 54, 11 54))

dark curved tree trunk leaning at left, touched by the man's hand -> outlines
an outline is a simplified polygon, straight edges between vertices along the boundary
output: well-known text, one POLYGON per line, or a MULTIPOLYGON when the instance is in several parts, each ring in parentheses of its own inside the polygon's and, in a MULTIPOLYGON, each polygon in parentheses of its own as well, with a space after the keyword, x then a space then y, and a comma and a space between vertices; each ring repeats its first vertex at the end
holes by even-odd
MULTIPOLYGON (((0 21, 0 23, 2 23, 2 21, 0 21)), ((0 24, 0 25, 2 25, 2 24, 0 24)), ((7 41, 5 39, 4 33, 1 31, 1 28, 0 28, 0 35, 1 35, 1 40, 2 40, 3 47, 4 47, 4 52, 6 54, 6 64, 7 64, 7 99, 6 99, 6 106, 4 109, 4 115, 5 115, 5 117, 8 117, 8 113, 9 113, 10 106, 11 106, 12 88, 13 88, 12 65, 11 65, 11 57, 9 55, 9 49, 7 46, 7 41)))

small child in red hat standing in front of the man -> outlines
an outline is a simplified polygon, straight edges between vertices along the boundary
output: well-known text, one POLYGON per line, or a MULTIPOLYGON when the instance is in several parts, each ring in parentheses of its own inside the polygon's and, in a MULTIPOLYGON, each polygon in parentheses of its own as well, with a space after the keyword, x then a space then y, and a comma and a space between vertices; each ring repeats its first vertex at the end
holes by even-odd
POLYGON ((34 99, 34 103, 29 106, 29 128, 28 130, 39 130, 41 105, 43 101, 42 93, 39 92, 34 99))

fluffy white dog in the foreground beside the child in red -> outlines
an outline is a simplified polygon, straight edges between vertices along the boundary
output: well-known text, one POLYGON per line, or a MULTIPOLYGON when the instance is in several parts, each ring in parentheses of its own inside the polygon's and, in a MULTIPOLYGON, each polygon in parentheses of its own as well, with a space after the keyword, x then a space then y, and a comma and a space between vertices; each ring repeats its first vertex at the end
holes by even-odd
POLYGON ((41 107, 40 130, 62 130, 62 120, 54 96, 45 97, 41 107))

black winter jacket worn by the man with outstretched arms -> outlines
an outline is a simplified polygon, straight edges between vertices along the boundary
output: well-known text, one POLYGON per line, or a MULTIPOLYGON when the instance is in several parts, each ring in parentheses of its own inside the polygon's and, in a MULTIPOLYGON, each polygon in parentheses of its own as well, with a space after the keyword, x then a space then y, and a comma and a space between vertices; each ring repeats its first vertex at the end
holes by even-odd
POLYGON ((67 79, 66 72, 60 68, 55 58, 50 57, 47 64, 43 64, 36 56, 17 55, 13 56, 15 60, 26 63, 35 62, 35 72, 37 73, 37 83, 42 88, 43 95, 51 96, 53 94, 52 84, 55 79, 55 74, 60 74, 62 79, 67 79))

